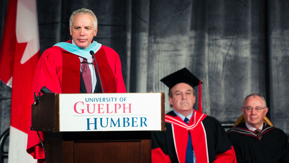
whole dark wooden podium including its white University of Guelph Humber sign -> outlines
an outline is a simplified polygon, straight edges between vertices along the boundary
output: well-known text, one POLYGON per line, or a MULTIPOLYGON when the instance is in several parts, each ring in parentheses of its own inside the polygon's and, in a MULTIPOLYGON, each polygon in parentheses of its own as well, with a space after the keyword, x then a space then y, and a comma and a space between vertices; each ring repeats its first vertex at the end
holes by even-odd
POLYGON ((31 130, 46 163, 151 162, 151 132, 165 131, 165 93, 44 93, 31 130), (92 132, 91 132, 92 131, 92 132))

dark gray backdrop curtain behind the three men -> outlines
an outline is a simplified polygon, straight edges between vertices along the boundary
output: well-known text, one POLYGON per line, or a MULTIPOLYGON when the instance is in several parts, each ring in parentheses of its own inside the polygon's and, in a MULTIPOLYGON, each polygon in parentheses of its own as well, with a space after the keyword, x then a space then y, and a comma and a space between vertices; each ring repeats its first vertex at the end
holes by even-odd
MULTIPOLYGON (((3 31, 7 0, 0 5, 3 31)), ((41 53, 71 39, 69 17, 79 8, 96 14, 94 40, 119 54, 128 92, 168 93, 159 80, 187 67, 203 82, 204 113, 235 122, 243 99, 259 93, 273 125, 289 133, 289 1, 38 0, 41 53)), ((0 90, 2 133, 11 89, 1 82, 0 90)))

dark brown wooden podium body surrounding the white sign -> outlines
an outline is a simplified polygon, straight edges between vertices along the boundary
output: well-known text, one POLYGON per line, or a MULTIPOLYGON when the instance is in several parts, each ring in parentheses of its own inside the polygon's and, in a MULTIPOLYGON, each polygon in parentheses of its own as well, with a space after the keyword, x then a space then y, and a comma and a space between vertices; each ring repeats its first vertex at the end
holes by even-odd
MULTIPOLYGON (((164 93, 161 94, 161 131, 164 127, 164 93)), ((58 93, 44 93, 32 105, 31 130, 44 132, 46 163, 151 162, 151 131, 60 130, 58 93)), ((136 94, 137 95, 137 94, 136 94)))

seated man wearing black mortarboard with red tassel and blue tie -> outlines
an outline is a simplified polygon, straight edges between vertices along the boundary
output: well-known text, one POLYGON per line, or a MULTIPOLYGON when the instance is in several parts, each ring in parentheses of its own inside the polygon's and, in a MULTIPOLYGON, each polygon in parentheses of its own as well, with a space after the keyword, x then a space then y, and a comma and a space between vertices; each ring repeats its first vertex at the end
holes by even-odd
POLYGON ((200 80, 183 68, 161 82, 169 87, 168 100, 173 111, 165 115, 166 131, 152 132, 152 163, 236 162, 234 150, 220 123, 193 109, 193 87, 201 84, 200 80))

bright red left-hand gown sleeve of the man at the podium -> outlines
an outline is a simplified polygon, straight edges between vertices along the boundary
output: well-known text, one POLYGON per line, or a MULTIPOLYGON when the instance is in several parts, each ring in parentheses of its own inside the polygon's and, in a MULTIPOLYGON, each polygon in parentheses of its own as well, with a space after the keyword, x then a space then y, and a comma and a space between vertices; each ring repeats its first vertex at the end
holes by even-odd
MULTIPOLYGON (((56 49, 46 49, 40 57, 35 68, 35 75, 32 86, 31 104, 34 102, 34 92, 38 95, 42 86, 46 86, 50 91, 62 93, 61 90, 61 73, 62 73, 62 58, 60 51, 56 49)), ((28 121, 28 141, 27 153, 33 156, 34 159, 41 159, 38 162, 44 162, 45 153, 40 143, 40 139, 36 131, 30 130, 31 126, 31 110, 28 121)), ((40 138, 44 140, 42 132, 39 132, 40 138)))

